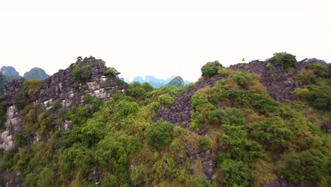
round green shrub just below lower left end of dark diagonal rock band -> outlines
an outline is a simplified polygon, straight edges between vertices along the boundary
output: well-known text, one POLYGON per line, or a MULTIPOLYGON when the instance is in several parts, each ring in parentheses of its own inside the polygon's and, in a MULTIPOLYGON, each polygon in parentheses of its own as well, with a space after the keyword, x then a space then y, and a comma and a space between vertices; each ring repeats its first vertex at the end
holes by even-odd
POLYGON ((170 133, 173 130, 173 124, 167 121, 157 121, 152 123, 146 130, 146 138, 149 145, 162 149, 171 141, 170 133))

